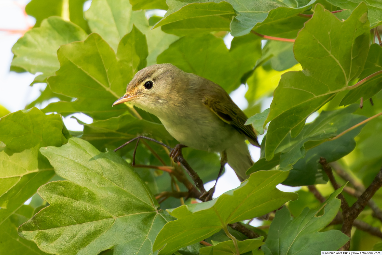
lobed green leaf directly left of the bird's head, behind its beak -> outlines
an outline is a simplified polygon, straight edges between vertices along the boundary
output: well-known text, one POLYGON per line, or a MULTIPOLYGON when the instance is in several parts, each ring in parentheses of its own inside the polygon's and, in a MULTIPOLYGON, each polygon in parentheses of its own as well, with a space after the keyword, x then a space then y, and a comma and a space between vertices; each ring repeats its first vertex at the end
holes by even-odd
POLYGON ((58 59, 61 67, 48 79, 48 84, 54 93, 76 100, 51 103, 43 109, 45 112, 64 116, 83 112, 94 119, 108 119, 128 110, 123 104, 112 107, 125 94, 126 84, 120 72, 121 62, 98 34, 63 45, 58 50, 58 59))

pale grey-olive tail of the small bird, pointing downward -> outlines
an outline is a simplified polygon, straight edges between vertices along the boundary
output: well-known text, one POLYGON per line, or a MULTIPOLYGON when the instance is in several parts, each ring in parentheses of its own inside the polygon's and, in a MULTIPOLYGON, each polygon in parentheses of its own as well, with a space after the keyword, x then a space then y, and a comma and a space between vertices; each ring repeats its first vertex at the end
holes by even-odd
POLYGON ((236 143, 227 149, 228 165, 235 170, 236 175, 242 182, 247 179, 246 172, 249 167, 253 166, 251 154, 249 154, 248 146, 245 142, 236 143))

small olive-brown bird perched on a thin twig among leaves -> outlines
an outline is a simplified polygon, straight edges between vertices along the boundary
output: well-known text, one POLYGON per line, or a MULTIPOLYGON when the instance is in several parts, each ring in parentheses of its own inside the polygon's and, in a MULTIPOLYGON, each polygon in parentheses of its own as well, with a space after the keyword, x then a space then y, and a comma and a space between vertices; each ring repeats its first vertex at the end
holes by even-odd
POLYGON ((228 159, 240 181, 247 178, 253 161, 245 140, 260 145, 253 127, 244 125, 244 112, 218 84, 172 64, 151 65, 136 73, 113 106, 128 101, 157 116, 183 147, 219 152, 221 170, 228 159))

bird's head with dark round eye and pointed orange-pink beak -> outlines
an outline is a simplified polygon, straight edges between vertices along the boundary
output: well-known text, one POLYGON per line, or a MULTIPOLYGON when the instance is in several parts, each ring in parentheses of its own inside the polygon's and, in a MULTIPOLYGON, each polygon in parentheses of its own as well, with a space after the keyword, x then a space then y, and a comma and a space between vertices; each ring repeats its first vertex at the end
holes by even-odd
POLYGON ((187 82, 186 73, 172 64, 157 64, 138 71, 126 88, 126 94, 113 103, 124 102, 144 110, 157 109, 167 102, 176 102, 178 87, 187 82))

